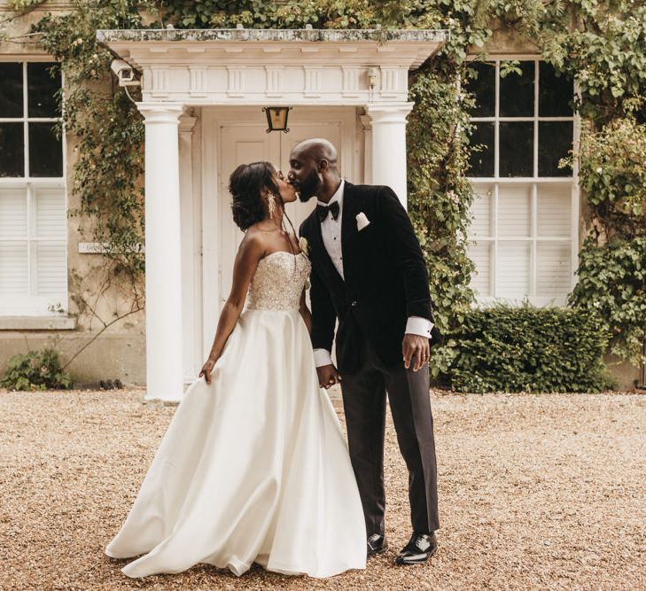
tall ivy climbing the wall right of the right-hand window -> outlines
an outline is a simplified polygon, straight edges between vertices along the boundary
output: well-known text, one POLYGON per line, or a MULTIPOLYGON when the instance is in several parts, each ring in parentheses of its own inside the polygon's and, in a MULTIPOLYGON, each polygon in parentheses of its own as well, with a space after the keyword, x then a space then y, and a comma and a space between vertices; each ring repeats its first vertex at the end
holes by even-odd
POLYGON ((646 362, 646 6, 576 6, 577 26, 550 50, 579 87, 575 157, 591 222, 569 303, 600 315, 611 353, 637 365, 646 362))

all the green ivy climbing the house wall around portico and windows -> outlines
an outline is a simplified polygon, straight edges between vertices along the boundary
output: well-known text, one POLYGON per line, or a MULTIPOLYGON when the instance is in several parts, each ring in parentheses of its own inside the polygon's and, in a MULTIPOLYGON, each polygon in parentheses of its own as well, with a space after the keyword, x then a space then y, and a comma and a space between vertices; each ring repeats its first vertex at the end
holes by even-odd
MULTIPOLYGON (((25 10, 37 3, 14 4, 25 10)), ((641 2, 79 0, 69 14, 45 17, 36 30, 42 33, 45 50, 63 62, 66 128, 79 137, 74 167, 74 191, 82 198, 79 213, 96 222, 97 240, 113 245, 115 268, 132 277, 144 270, 136 249, 143 241, 143 126, 122 89, 112 86, 111 92, 101 92, 110 80, 111 56, 97 46, 95 31, 168 24, 450 30, 451 38, 439 55, 411 77, 410 98, 416 107, 408 129, 409 211, 429 263, 437 319, 445 332, 462 323, 472 301, 472 264, 465 250, 472 196, 464 177, 471 149, 472 98, 459 81, 468 75, 470 52, 484 55, 494 35, 522 36, 579 89, 575 107, 582 118, 581 145, 573 157, 580 159, 592 229, 580 254, 580 281, 571 304, 600 316, 614 353, 639 361, 644 327, 635 319, 643 305, 640 269, 646 266, 640 258, 646 186, 646 7, 641 2), (601 273, 590 264, 600 258, 612 272, 601 273), (617 293, 612 282, 627 276, 630 290, 609 300, 610 293, 617 293)))

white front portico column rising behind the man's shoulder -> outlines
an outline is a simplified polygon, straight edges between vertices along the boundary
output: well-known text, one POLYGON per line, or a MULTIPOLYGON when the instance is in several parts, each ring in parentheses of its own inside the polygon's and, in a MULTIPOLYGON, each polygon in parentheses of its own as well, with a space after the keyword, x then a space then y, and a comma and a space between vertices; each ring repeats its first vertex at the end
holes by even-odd
POLYGON ((406 207, 406 117, 413 103, 368 105, 372 122, 372 184, 388 185, 406 207))

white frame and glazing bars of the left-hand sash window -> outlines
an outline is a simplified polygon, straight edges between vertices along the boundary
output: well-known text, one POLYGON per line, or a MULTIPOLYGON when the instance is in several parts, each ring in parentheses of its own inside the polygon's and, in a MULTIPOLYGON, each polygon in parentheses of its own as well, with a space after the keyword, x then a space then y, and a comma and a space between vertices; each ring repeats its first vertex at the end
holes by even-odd
MULTIPOLYGON (((27 199, 27 236, 23 238, 4 238, 0 236, 0 242, 27 242, 27 296, 0 297, 0 316, 62 316, 66 315, 68 309, 69 286, 66 277, 65 292, 61 292, 55 297, 36 296, 34 293, 35 285, 35 266, 32 263, 35 243, 39 241, 51 242, 51 238, 38 238, 32 236, 33 215, 34 215, 34 196, 35 192, 42 189, 60 189, 63 192, 65 212, 67 214, 67 149, 66 134, 61 137, 61 150, 63 151, 63 175, 56 177, 31 176, 29 170, 29 123, 55 123, 59 121, 58 117, 29 117, 28 113, 28 81, 27 81, 27 64, 55 62, 50 56, 25 56, 4 54, 0 57, 2 63, 20 63, 22 64, 22 117, 0 117, 0 123, 22 123, 25 163, 24 176, 0 177, 0 189, 19 189, 25 191, 27 199), (27 82, 27 83, 25 83, 27 82)), ((65 84, 65 79, 61 73, 61 85, 65 84)), ((58 242, 58 240, 56 240, 58 242)), ((65 253, 67 261, 68 253, 68 232, 60 242, 65 242, 65 253)), ((67 267, 68 263, 66 263, 67 267)))

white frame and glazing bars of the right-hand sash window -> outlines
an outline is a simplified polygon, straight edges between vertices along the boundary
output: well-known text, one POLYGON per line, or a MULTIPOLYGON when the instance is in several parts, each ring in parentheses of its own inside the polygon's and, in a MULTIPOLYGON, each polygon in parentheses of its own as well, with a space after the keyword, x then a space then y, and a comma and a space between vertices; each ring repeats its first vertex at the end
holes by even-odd
MULTIPOLYGON (((470 56, 471 61, 475 61, 477 56, 470 56)), ((570 187, 570 274, 571 274, 571 291, 576 284, 576 269, 579 261, 579 218, 580 218, 580 190, 579 190, 579 165, 574 159, 572 167, 572 176, 539 176, 538 175, 538 158, 539 158, 539 121, 572 121, 572 146, 576 152, 580 140, 580 117, 573 113, 571 116, 564 117, 546 117, 539 116, 539 64, 541 56, 536 54, 496 54, 486 59, 486 62, 495 62, 495 97, 494 97, 494 116, 493 117, 471 117, 472 123, 494 123, 494 176, 468 176, 467 180, 471 187, 478 192, 480 186, 493 186, 494 191, 491 194, 492 199, 492 233, 490 236, 478 236, 468 238, 469 244, 493 244, 489 268, 489 286, 491 295, 480 295, 476 292, 476 305, 486 306, 493 303, 509 303, 519 305, 523 301, 529 301, 535 306, 563 306, 567 299, 566 295, 562 296, 538 296, 536 293, 536 262, 537 262, 537 243, 557 241, 564 242, 564 237, 538 237, 537 231, 537 213, 538 213, 538 185, 551 184, 570 187), (533 61, 534 66, 534 85, 533 85, 533 116, 531 117, 501 117, 500 115, 500 64, 502 61, 533 61), (500 122, 533 122, 533 175, 532 176, 500 176, 500 142, 499 142, 499 123, 500 122), (531 235, 529 237, 500 237, 498 236, 498 198, 502 186, 510 185, 531 185, 531 235), (503 241, 509 242, 528 242, 531 244, 531 269, 530 269, 530 294, 523 298, 502 296, 496 293, 496 265, 498 261, 498 245, 503 241)), ((574 94, 577 93, 576 86, 574 94)))

